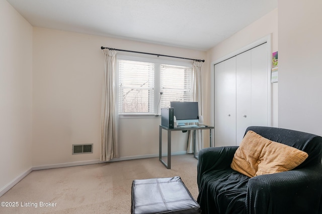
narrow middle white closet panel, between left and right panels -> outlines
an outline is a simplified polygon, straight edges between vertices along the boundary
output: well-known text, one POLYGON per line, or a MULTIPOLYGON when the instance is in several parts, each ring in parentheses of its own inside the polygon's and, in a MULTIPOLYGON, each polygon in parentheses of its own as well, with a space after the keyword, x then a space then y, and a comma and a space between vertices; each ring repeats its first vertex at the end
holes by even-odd
POLYGON ((252 123, 252 52, 236 56, 236 145, 252 123))

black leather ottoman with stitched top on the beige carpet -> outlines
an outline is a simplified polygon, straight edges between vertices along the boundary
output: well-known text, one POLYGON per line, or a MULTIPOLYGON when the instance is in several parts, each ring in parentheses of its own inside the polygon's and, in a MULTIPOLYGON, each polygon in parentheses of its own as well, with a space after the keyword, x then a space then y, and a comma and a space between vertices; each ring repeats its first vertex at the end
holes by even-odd
POLYGON ((133 180, 131 213, 201 213, 179 176, 133 180))

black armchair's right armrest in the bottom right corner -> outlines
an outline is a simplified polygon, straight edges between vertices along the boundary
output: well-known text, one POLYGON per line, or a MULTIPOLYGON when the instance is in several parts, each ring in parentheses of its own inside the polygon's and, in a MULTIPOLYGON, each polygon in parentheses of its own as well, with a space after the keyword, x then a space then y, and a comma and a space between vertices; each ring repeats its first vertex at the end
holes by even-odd
POLYGON ((249 179, 246 213, 322 213, 321 198, 321 165, 259 175, 249 179))

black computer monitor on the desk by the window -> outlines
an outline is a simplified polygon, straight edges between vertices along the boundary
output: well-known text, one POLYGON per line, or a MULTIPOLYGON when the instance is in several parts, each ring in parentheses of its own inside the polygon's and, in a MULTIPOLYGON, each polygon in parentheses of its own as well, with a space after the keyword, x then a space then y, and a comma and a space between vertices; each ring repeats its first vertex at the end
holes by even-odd
POLYGON ((174 108, 174 116, 179 125, 199 122, 198 102, 173 101, 170 102, 170 106, 174 108))

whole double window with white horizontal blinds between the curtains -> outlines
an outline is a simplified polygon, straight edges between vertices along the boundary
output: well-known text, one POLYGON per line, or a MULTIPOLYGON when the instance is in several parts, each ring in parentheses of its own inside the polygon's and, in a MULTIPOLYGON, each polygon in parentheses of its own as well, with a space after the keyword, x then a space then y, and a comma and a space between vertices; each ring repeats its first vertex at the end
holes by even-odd
POLYGON ((117 68, 121 115, 154 115, 171 101, 192 101, 192 65, 119 57, 117 68))

